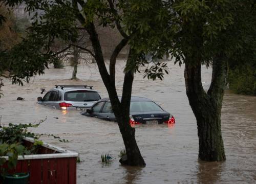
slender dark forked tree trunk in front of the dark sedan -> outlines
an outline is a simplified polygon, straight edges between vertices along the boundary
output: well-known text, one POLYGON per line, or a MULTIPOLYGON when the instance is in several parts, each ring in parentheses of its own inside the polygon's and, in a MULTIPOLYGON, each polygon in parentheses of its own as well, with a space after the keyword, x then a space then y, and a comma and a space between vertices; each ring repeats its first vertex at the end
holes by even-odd
MULTIPOLYGON (((127 159, 121 161, 123 165, 130 166, 145 166, 145 162, 143 157, 141 156, 140 150, 135 140, 135 128, 132 128, 129 120, 130 120, 130 101, 132 94, 132 84, 133 84, 133 71, 126 71, 123 82, 123 94, 121 102, 118 99, 116 85, 115 85, 115 62, 117 55, 121 51, 121 49, 126 45, 126 39, 123 39, 115 48, 111 59, 110 59, 110 74, 106 70, 106 66, 104 63, 104 58, 102 55, 100 42, 98 39, 98 35, 96 33, 94 24, 91 23, 87 27, 87 31, 90 34, 90 40, 92 42, 93 50, 95 53, 95 60, 97 62, 99 72, 103 83, 108 90, 108 94, 110 97, 111 105, 113 108, 113 112, 116 116, 117 123, 122 134, 124 146, 126 149, 127 159)), ((132 62, 131 54, 127 59, 127 62, 132 62)))

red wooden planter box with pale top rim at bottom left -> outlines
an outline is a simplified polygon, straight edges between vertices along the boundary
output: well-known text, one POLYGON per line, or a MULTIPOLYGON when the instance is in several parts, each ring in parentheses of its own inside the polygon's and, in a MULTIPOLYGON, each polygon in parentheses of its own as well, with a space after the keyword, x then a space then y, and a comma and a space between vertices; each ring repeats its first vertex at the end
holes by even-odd
MULTIPOLYGON (((25 145, 33 139, 25 138, 25 145)), ((77 153, 44 143, 41 154, 18 156, 18 162, 11 173, 29 173, 31 184, 75 184, 77 153)), ((8 157, 6 157, 8 159, 8 157)))

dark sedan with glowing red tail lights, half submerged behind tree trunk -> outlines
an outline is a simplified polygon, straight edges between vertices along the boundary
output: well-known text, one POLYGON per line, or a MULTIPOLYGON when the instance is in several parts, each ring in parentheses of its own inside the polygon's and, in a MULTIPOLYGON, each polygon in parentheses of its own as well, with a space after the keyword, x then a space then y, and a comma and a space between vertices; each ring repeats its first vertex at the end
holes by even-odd
MULTIPOLYGON (((109 99, 99 100, 91 108, 87 109, 86 112, 81 112, 81 114, 103 120, 116 121, 109 99)), ((142 97, 132 97, 130 105, 130 123, 173 124, 175 123, 175 119, 172 114, 163 110, 152 100, 142 97)))

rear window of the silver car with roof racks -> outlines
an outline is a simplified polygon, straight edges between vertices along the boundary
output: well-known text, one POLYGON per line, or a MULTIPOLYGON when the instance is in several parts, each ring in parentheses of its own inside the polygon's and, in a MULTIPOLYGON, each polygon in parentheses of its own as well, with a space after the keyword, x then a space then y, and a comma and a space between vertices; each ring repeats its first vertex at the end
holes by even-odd
POLYGON ((64 100, 73 102, 98 101, 99 94, 96 91, 76 90, 68 91, 64 95, 64 100))

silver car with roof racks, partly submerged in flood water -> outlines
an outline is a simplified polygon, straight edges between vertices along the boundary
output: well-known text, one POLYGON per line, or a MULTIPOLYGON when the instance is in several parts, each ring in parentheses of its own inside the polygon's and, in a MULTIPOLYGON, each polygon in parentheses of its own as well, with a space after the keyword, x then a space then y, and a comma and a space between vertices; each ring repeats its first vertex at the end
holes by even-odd
POLYGON ((55 85, 43 98, 37 98, 37 104, 59 110, 86 110, 101 99, 98 92, 92 87, 88 85, 55 85))

